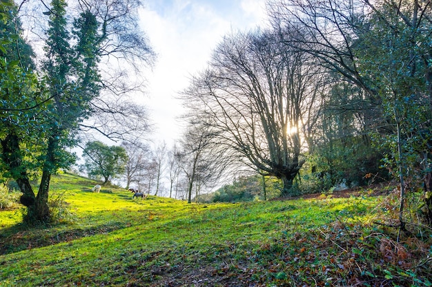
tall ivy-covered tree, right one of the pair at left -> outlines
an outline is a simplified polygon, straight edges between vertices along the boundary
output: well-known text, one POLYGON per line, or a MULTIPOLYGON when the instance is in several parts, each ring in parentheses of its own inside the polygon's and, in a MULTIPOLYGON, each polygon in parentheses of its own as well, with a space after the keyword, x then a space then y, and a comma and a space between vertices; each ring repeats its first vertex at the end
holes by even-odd
POLYGON ((43 135, 46 145, 40 156, 42 177, 35 202, 41 220, 49 217, 51 175, 75 161, 66 147, 73 146, 72 131, 86 117, 92 98, 99 95, 100 82, 97 54, 101 39, 95 15, 88 10, 81 12, 68 31, 66 1, 53 0, 51 6, 43 73, 52 100, 44 111, 50 123, 43 135))

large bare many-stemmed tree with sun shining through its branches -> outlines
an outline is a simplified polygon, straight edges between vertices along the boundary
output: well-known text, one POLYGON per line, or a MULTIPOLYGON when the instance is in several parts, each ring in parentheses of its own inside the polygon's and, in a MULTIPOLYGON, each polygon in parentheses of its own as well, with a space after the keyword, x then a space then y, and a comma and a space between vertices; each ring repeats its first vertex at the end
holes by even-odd
POLYGON ((302 132, 312 124, 320 70, 280 42, 267 31, 227 36, 185 94, 219 142, 251 169, 281 179, 286 196, 304 163, 302 132))

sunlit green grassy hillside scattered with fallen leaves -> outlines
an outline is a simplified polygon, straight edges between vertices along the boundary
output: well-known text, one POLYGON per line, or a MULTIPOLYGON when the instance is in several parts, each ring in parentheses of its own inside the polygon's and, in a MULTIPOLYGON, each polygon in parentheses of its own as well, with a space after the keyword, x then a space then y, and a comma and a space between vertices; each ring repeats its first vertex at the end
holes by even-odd
POLYGON ((60 224, 0 211, 0 286, 431 286, 431 232, 397 243, 393 195, 186 204, 57 176, 60 224), (64 204, 68 203, 68 209, 64 204))

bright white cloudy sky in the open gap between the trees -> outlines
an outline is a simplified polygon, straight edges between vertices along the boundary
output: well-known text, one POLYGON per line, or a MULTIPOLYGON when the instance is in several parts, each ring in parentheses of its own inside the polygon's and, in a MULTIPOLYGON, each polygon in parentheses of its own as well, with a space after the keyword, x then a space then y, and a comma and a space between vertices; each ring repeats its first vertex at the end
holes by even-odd
POLYGON ((155 123, 152 135, 168 146, 181 137, 179 92, 204 70, 212 51, 230 32, 263 27, 266 0, 145 0, 141 29, 157 54, 140 103, 155 123))

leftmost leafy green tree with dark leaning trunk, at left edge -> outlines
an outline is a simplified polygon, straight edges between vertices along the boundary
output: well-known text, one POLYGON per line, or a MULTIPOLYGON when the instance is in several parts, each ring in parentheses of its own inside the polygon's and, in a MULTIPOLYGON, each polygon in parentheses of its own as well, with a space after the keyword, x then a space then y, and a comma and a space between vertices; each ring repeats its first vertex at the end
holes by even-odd
MULTIPOLYGON (((47 130, 42 113, 48 108, 50 98, 33 70, 34 54, 23 40, 17 6, 13 1, 2 1, 0 8, 0 167, 3 176, 16 180, 23 193, 20 202, 33 217, 38 213, 37 197, 30 179, 35 176, 36 156, 41 153, 35 139, 47 130)), ((46 215, 41 214, 42 217, 46 215)))

